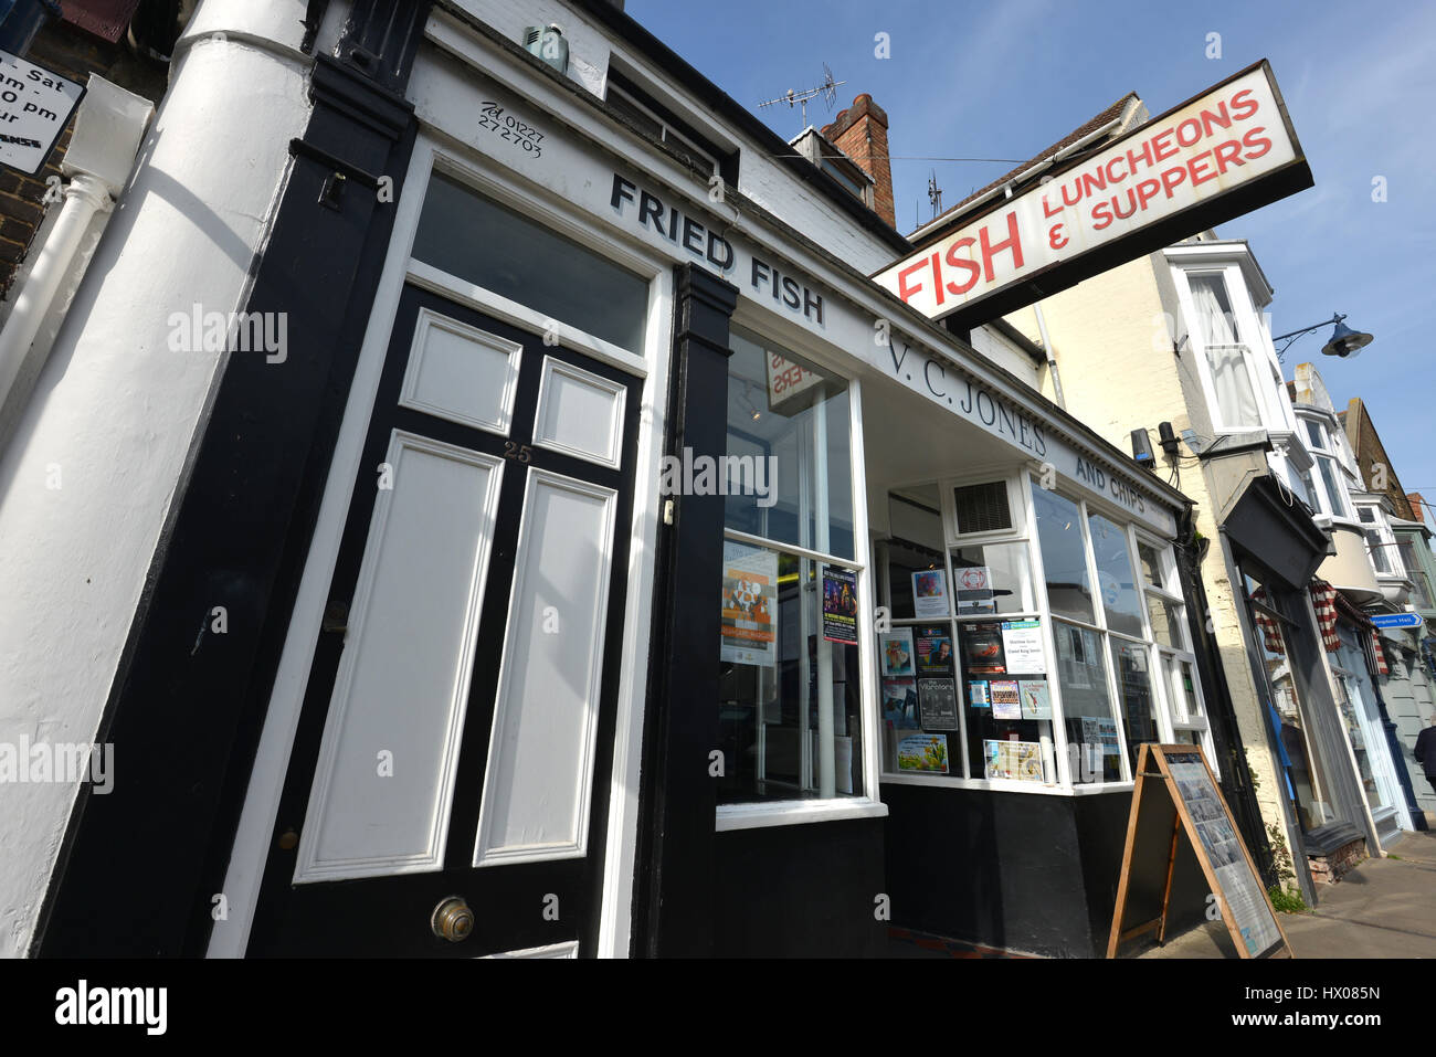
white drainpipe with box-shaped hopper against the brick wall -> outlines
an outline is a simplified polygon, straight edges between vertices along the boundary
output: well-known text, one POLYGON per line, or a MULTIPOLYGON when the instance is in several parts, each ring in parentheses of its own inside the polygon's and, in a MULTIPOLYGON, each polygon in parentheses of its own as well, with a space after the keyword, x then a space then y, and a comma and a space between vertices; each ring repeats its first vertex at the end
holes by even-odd
MULTIPOLYGON (((0 330, 0 408, 10 402, 14 379, 62 290, 73 289, 80 246, 95 217, 115 208, 129 180, 154 103, 90 75, 75 116, 75 131, 60 171, 70 178, 55 227, 39 246, 30 273, 0 330)), ((49 349, 37 353, 49 355, 49 349)), ((23 395, 19 398, 23 401, 23 395)), ((19 415, 19 406, 14 411, 19 415)))

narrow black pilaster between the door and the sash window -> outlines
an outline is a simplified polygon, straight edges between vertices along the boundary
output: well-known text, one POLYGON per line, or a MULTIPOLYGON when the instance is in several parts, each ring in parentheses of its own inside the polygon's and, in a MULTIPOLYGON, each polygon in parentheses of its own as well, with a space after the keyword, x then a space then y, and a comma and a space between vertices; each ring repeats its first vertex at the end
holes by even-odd
MULTIPOLYGON (((665 455, 728 451, 728 322, 738 287, 692 264, 673 269, 673 359, 665 455)), ((722 495, 673 495, 659 533, 639 793, 632 951, 712 954, 722 495)))

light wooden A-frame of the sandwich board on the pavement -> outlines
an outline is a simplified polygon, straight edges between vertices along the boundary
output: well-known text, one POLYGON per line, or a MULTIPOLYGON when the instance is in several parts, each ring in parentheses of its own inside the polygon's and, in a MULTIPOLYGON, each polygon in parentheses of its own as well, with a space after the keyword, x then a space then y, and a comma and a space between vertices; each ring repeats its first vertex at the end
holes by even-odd
MULTIPOLYGON (((1150 797, 1149 797, 1150 798, 1150 797)), ((1231 932, 1232 944, 1236 946, 1236 954, 1241 958, 1294 958, 1291 951, 1291 944, 1287 941, 1287 931, 1281 926, 1281 918, 1277 915, 1277 909, 1271 905, 1271 899, 1267 896, 1267 888, 1261 883, 1261 873, 1256 870, 1256 863, 1252 862, 1251 852, 1246 850, 1246 842, 1241 839, 1241 830, 1236 829, 1236 820, 1232 819, 1232 809, 1226 806, 1226 797, 1222 796, 1222 787, 1216 784, 1216 776, 1212 774, 1211 764, 1206 763, 1206 755, 1202 753, 1199 745, 1155 745, 1143 744, 1142 751, 1137 757, 1137 776, 1136 784, 1132 790, 1132 811, 1127 816, 1127 842, 1126 849, 1122 853, 1122 876, 1117 882, 1117 905, 1111 915, 1111 933, 1107 938, 1107 956, 1116 958, 1117 948, 1126 941, 1143 935, 1144 932, 1156 931, 1157 944, 1166 941, 1166 925, 1167 925, 1167 905, 1172 898, 1172 875, 1176 869, 1176 853, 1178 844, 1182 837, 1182 830, 1186 830, 1186 839, 1192 844, 1192 852, 1196 855, 1196 862, 1202 867, 1202 873, 1206 877, 1211 890, 1216 893, 1218 902, 1222 911, 1222 921, 1226 922, 1226 929, 1231 932), (1246 867, 1251 870, 1252 879, 1255 880, 1256 890, 1261 893, 1262 902, 1267 911, 1271 913, 1272 922, 1277 925, 1277 933, 1281 936, 1281 942, 1274 942, 1265 951, 1258 951, 1251 954, 1246 951, 1246 944, 1242 939, 1241 928, 1236 922, 1236 916, 1232 913, 1226 893, 1222 890, 1221 880, 1216 876, 1216 869, 1212 866, 1211 859, 1206 855, 1206 847, 1203 846, 1196 823, 1192 820, 1192 814, 1188 810, 1186 801, 1182 798, 1182 791, 1178 788, 1176 778, 1172 776, 1172 770, 1167 764, 1166 754, 1173 753, 1178 755, 1189 757, 1196 755, 1202 761, 1202 768, 1206 771, 1208 780, 1212 783, 1212 790, 1216 793, 1216 800, 1222 806, 1222 811, 1226 814, 1226 821, 1232 827, 1232 833, 1236 836, 1236 844, 1242 849, 1242 856, 1245 859, 1246 867), (1142 813, 1143 791, 1146 788, 1147 778, 1153 781, 1160 781, 1165 787, 1167 796, 1172 797, 1172 806, 1175 810, 1175 820, 1172 824, 1172 843, 1167 849, 1167 863, 1166 863, 1166 886, 1162 892, 1162 912, 1152 921, 1134 925, 1132 928, 1123 929, 1123 916, 1127 909, 1127 895, 1129 882, 1132 877, 1132 859, 1136 853, 1137 840, 1137 819, 1142 813)))

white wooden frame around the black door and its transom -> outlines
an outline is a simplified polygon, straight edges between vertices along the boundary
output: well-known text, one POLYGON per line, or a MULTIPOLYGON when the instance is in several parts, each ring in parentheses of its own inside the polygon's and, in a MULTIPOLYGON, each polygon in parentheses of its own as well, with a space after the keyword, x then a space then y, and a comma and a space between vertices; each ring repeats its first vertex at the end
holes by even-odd
MULTIPOLYGON (((424 208, 429 174, 434 169, 442 169, 472 184, 497 201, 569 238, 586 243, 649 280, 642 356, 626 353, 569 326, 560 329, 564 343, 570 348, 626 371, 643 383, 642 406, 638 409, 639 435, 633 467, 633 514, 629 526, 629 580, 623 602, 622 669, 607 791, 609 824, 602 849, 603 896, 599 906, 599 944, 592 954, 600 958, 622 958, 629 952, 633 877, 638 867, 638 790, 655 585, 653 556, 659 531, 659 465, 668 415, 673 304, 671 267, 668 261, 643 248, 619 228, 603 227, 579 210, 554 202, 543 195, 541 188, 514 178, 487 157, 444 145, 434 129, 421 125, 404 182, 405 192, 395 204, 393 233, 385 254, 383 273, 365 329, 353 383, 325 481, 319 517, 276 671, 258 751, 250 773, 224 879, 227 918, 215 921, 211 929, 207 951, 207 956, 211 958, 240 958, 248 946, 269 839, 289 770, 290 748, 329 599, 339 543, 353 498, 353 483, 363 457, 363 441, 369 431, 379 378, 405 284, 414 283, 461 306, 538 332, 543 332, 547 322, 543 313, 411 260, 414 234, 424 208)), ((595 794, 600 793, 595 790, 595 794)), ((589 849, 589 855, 599 855, 599 849, 589 849)))

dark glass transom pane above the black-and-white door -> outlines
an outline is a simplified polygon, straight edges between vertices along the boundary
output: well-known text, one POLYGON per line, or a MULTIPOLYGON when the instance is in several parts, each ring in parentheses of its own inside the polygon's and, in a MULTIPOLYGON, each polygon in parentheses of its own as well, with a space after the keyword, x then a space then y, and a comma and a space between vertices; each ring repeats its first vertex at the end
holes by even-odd
POLYGON ((435 172, 414 257, 629 352, 643 352, 648 280, 435 172))

